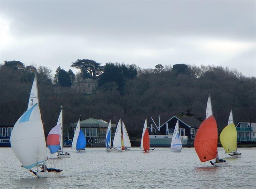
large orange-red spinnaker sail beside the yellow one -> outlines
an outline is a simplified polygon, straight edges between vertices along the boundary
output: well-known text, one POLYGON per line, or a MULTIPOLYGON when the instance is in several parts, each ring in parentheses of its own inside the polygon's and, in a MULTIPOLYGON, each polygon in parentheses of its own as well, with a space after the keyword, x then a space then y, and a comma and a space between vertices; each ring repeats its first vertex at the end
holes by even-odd
POLYGON ((195 137, 195 150, 201 162, 217 157, 218 129, 213 115, 200 125, 195 137))

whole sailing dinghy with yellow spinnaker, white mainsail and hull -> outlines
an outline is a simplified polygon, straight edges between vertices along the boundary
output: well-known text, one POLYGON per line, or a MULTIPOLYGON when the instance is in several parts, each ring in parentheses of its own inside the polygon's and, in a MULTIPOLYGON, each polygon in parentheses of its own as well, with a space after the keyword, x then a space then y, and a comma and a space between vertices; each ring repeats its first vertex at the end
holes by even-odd
POLYGON ((229 114, 228 125, 220 133, 220 143, 225 149, 225 153, 233 152, 233 154, 228 155, 232 157, 241 157, 242 153, 237 152, 236 137, 236 126, 233 123, 233 114, 231 110, 229 114))

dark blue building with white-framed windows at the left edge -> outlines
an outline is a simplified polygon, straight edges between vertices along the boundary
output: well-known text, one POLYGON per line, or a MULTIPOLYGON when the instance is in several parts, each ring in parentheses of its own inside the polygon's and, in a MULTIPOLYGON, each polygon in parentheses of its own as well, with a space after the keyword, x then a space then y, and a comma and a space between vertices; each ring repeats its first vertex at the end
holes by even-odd
POLYGON ((11 147, 11 132, 13 125, 0 125, 0 147, 11 147))

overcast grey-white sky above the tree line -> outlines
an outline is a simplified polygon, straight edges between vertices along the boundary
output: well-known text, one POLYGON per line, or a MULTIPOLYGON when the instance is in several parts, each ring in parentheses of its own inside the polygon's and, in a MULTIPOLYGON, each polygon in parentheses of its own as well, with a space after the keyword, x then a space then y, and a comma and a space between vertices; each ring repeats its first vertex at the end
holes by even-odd
MULTIPOLYGON (((215 65, 256 76, 256 1, 0 0, 0 63, 215 65)), ((75 68, 72 68, 76 73, 75 68)))

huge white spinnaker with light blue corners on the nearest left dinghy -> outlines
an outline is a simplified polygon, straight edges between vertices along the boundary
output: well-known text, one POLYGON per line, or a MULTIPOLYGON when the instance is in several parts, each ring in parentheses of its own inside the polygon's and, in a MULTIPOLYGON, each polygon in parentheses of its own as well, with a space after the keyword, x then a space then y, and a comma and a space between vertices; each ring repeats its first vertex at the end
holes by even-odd
POLYGON ((23 167, 31 169, 47 160, 44 128, 38 104, 28 109, 11 133, 12 151, 23 167))

